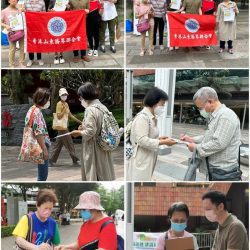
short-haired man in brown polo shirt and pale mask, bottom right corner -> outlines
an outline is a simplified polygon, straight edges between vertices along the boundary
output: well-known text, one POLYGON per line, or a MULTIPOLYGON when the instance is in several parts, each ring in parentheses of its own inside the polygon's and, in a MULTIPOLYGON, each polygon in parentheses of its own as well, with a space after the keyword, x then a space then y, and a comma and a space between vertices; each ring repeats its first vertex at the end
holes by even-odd
POLYGON ((244 224, 227 210, 227 198, 219 191, 210 191, 202 196, 205 216, 217 222, 212 250, 248 250, 248 236, 244 224))

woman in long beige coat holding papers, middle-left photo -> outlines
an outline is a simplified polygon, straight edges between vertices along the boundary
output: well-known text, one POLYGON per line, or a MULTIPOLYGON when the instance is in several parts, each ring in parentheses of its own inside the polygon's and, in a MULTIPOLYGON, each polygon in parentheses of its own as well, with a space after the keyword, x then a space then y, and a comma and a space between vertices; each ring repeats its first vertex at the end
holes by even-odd
POLYGON ((71 135, 82 136, 82 180, 112 181, 115 179, 112 152, 104 151, 96 140, 102 129, 102 110, 108 109, 99 101, 97 88, 90 82, 84 83, 78 89, 78 95, 85 108, 83 125, 72 131, 71 135))

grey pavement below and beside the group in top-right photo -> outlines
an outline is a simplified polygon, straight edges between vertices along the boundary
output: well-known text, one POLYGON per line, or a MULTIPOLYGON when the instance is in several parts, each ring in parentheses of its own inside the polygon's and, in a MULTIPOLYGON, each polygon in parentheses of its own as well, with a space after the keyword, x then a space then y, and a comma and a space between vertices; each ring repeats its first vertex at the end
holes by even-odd
MULTIPOLYGON (((249 12, 240 11, 237 16, 237 40, 234 41, 234 54, 228 52, 219 54, 219 47, 213 46, 210 50, 205 47, 180 48, 179 50, 161 51, 159 46, 154 50, 154 55, 141 57, 140 36, 127 33, 126 35, 126 60, 129 68, 248 68, 249 65, 249 12)), ((148 47, 148 39, 146 39, 148 47)), ((167 38, 164 38, 164 45, 167 38)))

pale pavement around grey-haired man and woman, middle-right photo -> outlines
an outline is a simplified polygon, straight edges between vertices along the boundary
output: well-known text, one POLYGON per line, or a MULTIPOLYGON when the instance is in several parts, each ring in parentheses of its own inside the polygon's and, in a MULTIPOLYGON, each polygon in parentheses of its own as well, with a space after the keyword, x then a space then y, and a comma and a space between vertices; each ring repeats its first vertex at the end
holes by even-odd
MULTIPOLYGON (((202 135, 205 131, 205 126, 193 124, 173 124, 173 138, 179 138, 183 131, 187 131, 187 135, 197 136, 202 135)), ((242 141, 249 143, 249 131, 241 131, 242 141)), ((153 181, 182 181, 187 170, 188 158, 192 153, 189 152, 185 145, 174 145, 171 148, 171 153, 158 157, 156 169, 154 171, 153 181)), ((243 180, 249 179, 249 166, 241 164, 243 172, 243 180)), ((197 181, 205 181, 205 176, 197 172, 197 181)))

